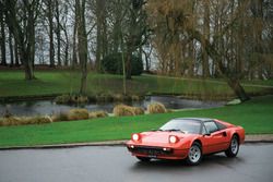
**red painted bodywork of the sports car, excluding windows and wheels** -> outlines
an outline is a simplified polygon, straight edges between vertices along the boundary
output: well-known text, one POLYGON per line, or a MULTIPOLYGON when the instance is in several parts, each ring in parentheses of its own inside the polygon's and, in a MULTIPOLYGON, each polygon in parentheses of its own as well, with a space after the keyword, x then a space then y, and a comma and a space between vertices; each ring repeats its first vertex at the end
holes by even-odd
POLYGON ((233 135, 239 137, 239 144, 245 141, 245 130, 241 126, 236 126, 230 123, 214 120, 224 124, 226 128, 211 133, 210 135, 203 134, 185 134, 181 132, 143 132, 139 133, 140 139, 130 139, 127 143, 128 150, 132 156, 136 157, 150 157, 157 159, 185 159, 188 156, 189 148, 193 142, 199 142, 202 146, 202 154, 214 154, 226 150, 229 145, 233 135), (169 136, 175 135, 178 137, 178 142, 171 144, 169 136), (150 153, 153 151, 153 153, 150 153))

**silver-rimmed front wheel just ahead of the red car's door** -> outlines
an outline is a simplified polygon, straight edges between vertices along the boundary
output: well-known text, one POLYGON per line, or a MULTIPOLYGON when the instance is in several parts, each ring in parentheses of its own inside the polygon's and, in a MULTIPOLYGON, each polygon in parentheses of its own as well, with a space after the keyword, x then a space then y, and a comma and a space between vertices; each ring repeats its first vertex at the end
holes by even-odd
POLYGON ((186 159, 187 163, 190 166, 197 166, 201 162, 202 158, 202 146, 198 142, 193 142, 186 159))

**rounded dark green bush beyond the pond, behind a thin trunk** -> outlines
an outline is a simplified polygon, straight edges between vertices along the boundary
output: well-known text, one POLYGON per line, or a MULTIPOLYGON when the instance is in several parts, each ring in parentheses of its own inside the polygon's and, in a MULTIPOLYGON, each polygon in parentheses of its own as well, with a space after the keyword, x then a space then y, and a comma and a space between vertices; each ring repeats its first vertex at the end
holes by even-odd
MULTIPOLYGON (((124 58, 126 59, 126 58, 124 58)), ((121 52, 119 53, 111 53, 106 56, 102 60, 103 69, 107 73, 112 73, 112 74, 122 74, 123 73, 123 66, 122 66, 122 54, 121 52)), ((142 59, 132 56, 131 59, 131 68, 132 68, 132 75, 140 75, 143 72, 143 62, 142 59)))

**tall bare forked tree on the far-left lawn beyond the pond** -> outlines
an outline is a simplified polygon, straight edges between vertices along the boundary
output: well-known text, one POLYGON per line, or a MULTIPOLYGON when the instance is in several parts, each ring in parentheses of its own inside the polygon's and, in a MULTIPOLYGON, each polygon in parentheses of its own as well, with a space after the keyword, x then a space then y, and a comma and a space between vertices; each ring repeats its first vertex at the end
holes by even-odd
POLYGON ((35 22, 39 13, 39 0, 24 0, 22 2, 3 0, 0 1, 1 5, 4 7, 5 23, 19 46, 21 60, 24 63, 25 78, 33 80, 35 78, 35 22))

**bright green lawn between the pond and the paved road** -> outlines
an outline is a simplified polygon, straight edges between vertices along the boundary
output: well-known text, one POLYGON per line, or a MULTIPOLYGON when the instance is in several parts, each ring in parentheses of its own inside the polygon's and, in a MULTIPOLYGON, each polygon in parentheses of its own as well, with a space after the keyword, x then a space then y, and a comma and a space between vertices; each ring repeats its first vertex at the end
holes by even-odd
POLYGON ((273 96, 257 97, 241 105, 214 109, 5 126, 0 128, 0 146, 128 139, 133 132, 157 129, 169 119, 178 117, 217 118, 244 126, 247 134, 273 133, 273 96))

